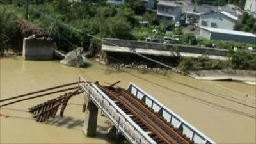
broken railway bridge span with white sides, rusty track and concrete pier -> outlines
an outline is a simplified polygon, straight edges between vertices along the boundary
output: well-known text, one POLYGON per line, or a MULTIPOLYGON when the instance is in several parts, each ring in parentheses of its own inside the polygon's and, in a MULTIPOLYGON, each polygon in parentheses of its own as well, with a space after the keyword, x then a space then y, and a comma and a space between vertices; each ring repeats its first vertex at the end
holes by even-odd
POLYGON ((79 77, 79 89, 86 104, 84 134, 95 135, 98 109, 130 143, 215 143, 171 109, 130 83, 127 90, 117 86, 87 83, 79 77))

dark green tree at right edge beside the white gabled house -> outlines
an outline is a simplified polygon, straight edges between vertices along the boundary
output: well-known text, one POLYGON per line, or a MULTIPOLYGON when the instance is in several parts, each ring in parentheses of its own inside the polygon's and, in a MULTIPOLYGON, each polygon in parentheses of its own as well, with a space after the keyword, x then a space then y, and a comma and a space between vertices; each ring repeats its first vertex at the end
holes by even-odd
POLYGON ((236 24, 235 29, 238 31, 247 31, 256 34, 256 19, 253 15, 244 12, 242 19, 236 24))

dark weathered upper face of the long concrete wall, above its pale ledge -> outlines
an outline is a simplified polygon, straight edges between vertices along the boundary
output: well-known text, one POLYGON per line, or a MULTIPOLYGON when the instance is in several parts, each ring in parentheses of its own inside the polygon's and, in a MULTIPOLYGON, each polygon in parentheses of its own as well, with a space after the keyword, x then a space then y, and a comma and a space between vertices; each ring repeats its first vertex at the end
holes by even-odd
MULTIPOLYGON (((172 51, 172 52, 184 52, 191 54, 209 54, 212 56, 227 56, 228 51, 225 49, 211 49, 206 47, 195 47, 190 45, 173 45, 173 44, 158 44, 152 42, 140 42, 134 40, 119 40, 114 38, 103 38, 103 45, 118 47, 129 47, 131 49, 144 49, 144 50, 158 50, 158 51, 172 51)), ((102 49, 104 51, 104 49, 102 49)), ((107 50, 111 51, 111 50, 107 50)))

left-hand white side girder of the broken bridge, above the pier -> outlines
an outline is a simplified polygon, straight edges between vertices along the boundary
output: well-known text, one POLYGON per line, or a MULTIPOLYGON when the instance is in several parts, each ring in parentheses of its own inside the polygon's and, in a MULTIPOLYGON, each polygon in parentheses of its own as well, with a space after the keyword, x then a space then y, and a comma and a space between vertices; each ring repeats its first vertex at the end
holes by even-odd
POLYGON ((83 77, 79 76, 79 88, 88 94, 89 100, 92 100, 102 110, 115 125, 117 132, 121 132, 130 143, 156 143, 95 84, 87 83, 83 77))

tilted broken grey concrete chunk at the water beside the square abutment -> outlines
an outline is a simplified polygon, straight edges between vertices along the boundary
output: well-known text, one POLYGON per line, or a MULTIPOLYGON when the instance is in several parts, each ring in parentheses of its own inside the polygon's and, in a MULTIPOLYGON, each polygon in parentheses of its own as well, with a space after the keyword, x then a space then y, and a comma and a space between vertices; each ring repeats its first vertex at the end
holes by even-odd
POLYGON ((73 67, 81 67, 84 65, 84 58, 83 58, 83 47, 78 47, 77 49, 68 52, 65 58, 60 61, 60 63, 64 65, 69 65, 73 67))

